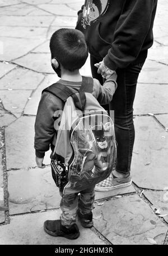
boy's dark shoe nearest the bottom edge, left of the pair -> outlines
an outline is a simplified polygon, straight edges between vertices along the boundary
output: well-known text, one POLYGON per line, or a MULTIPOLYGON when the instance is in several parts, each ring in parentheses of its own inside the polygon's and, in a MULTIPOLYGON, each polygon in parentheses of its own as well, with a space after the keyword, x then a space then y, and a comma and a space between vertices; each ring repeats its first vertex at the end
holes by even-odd
POLYGON ((66 228, 61 224, 60 219, 45 221, 44 230, 51 236, 63 236, 67 239, 77 239, 80 236, 80 231, 76 223, 66 228))

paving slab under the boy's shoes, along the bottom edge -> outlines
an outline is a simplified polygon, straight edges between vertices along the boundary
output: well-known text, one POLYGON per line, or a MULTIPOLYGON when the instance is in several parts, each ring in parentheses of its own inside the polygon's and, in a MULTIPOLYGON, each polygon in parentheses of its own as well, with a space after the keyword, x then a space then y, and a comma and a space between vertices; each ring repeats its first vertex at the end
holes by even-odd
POLYGON ((80 237, 69 240, 45 233, 43 223, 46 219, 59 219, 59 210, 43 213, 13 216, 10 224, 0 227, 0 244, 8 245, 105 245, 90 228, 80 228, 80 237))

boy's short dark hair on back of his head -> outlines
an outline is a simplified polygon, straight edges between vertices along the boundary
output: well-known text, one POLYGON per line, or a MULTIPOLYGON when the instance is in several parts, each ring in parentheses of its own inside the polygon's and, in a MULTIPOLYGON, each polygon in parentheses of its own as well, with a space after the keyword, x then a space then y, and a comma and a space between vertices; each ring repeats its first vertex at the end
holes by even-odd
POLYGON ((88 56, 85 36, 76 29, 55 31, 50 39, 50 51, 52 59, 57 59, 69 71, 82 68, 88 56))

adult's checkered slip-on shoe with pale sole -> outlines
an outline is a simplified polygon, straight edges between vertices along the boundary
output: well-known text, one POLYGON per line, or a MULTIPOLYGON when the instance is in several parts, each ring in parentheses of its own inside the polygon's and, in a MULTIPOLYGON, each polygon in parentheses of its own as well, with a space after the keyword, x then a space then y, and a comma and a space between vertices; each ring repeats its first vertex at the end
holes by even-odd
POLYGON ((104 181, 99 182, 95 186, 95 191, 104 192, 104 191, 115 190, 116 188, 120 188, 120 187, 128 187, 131 185, 131 183, 132 183, 132 179, 130 174, 125 178, 117 178, 113 176, 113 174, 111 173, 108 178, 104 179, 104 181))

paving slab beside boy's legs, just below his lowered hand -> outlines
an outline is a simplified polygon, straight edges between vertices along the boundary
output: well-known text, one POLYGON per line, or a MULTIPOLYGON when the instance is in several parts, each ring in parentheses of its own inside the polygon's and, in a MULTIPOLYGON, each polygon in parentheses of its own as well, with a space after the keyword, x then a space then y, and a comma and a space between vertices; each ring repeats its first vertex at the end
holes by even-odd
POLYGON ((10 170, 8 192, 10 215, 59 208, 59 189, 50 167, 10 170))

